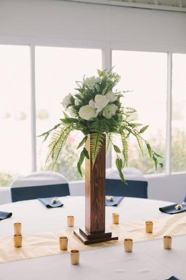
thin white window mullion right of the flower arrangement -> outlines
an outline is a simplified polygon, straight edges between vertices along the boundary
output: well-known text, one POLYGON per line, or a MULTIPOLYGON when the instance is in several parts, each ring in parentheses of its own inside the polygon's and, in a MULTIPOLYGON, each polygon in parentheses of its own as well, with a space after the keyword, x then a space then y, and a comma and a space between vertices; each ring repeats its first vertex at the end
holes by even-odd
POLYGON ((171 174, 172 53, 167 54, 166 174, 171 174))

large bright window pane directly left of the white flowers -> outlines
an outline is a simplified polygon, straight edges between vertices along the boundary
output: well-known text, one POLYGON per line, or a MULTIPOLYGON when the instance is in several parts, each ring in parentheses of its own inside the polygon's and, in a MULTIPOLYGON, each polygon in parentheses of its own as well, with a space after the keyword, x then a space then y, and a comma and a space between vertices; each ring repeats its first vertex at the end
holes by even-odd
MULTIPOLYGON (((63 117, 60 102, 69 92, 75 93, 75 81, 84 75, 97 75, 97 69, 102 69, 100 49, 36 47, 37 135, 52 128, 63 117)), ((76 168, 80 133, 70 135, 54 167, 68 180, 81 179, 76 168)), ((42 140, 37 138, 37 168, 51 170, 51 161, 45 167, 48 142, 42 144, 42 140)))

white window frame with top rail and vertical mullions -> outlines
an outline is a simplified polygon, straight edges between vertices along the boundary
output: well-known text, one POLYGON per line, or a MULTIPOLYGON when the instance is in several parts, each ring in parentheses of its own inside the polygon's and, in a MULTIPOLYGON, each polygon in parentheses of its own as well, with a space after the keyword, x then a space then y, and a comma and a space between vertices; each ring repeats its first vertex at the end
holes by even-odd
MULTIPOLYGON (((128 51, 146 51, 146 52, 164 52, 167 53, 167 120, 166 120, 166 160, 165 160, 165 174, 152 174, 146 175, 147 178, 162 177, 178 174, 186 174, 184 172, 171 172, 171 116, 172 116, 172 54, 183 53, 185 50, 179 46, 166 46, 166 45, 146 45, 118 42, 95 42, 95 41, 79 41, 79 40, 60 40, 50 38, 0 38, 2 45, 26 45, 30 47, 30 63, 31 63, 31 130, 32 130, 32 172, 37 171, 37 158, 36 158, 36 97, 35 97, 35 47, 37 46, 50 46, 50 47, 69 47, 69 48, 95 48, 102 50, 102 66, 103 69, 112 67, 112 51, 113 50, 128 50, 128 51), (170 49, 171 48, 171 49, 170 49)), ((106 167, 111 167, 111 153, 107 156, 106 167)))

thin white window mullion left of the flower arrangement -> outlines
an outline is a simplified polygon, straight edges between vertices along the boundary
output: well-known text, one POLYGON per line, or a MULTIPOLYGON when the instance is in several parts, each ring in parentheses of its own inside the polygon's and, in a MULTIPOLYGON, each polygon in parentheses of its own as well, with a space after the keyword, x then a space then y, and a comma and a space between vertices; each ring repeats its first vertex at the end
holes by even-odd
POLYGON ((37 170, 36 163, 36 87, 35 87, 35 46, 30 46, 31 65, 31 132, 32 132, 32 172, 37 170))

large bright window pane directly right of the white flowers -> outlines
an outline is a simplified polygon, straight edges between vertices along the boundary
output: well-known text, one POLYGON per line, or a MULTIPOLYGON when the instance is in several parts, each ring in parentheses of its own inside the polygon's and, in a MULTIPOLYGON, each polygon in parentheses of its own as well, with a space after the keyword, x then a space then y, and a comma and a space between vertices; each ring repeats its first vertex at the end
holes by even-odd
MULTIPOLYGON (((166 137, 166 90, 167 90, 167 55, 166 53, 141 51, 113 51, 113 66, 122 79, 119 90, 132 90, 125 93, 123 104, 134 107, 135 122, 149 125, 143 137, 153 149, 165 156, 166 137)), ((163 172, 158 167, 155 171, 153 161, 145 153, 142 156, 136 139, 130 138, 129 167, 136 167, 144 174, 163 172)), ((113 166, 115 153, 113 152, 113 166)), ((162 160, 163 162, 164 160, 162 160)))

